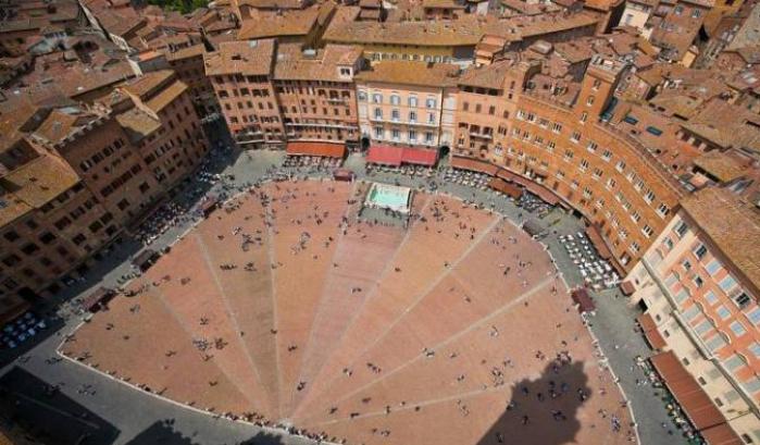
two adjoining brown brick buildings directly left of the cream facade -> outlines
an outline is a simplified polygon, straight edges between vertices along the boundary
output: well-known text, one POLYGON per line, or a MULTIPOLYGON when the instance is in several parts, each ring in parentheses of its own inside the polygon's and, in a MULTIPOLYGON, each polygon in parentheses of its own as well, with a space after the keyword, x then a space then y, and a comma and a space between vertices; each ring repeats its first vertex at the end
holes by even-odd
POLYGON ((220 45, 205 55, 227 127, 244 146, 284 148, 288 140, 356 145, 353 76, 362 67, 353 47, 303 50, 273 39, 220 45))

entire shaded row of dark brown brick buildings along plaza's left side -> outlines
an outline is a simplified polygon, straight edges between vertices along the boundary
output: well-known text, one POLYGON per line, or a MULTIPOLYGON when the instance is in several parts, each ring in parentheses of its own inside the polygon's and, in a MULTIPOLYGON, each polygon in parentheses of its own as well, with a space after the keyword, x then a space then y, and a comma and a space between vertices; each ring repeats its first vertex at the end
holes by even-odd
POLYGON ((3 115, 0 320, 58 291, 146 215, 208 150, 187 86, 171 71, 89 109, 3 115))

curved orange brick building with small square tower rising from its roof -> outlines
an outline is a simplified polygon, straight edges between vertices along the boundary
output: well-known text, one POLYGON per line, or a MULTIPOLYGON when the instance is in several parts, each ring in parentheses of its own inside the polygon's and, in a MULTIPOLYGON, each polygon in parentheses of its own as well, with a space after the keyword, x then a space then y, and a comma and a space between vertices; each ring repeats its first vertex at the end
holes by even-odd
MULTIPOLYGON (((621 272, 640 258, 685 193, 643 144, 600 121, 624 69, 619 62, 595 58, 572 103, 544 88, 531 88, 534 81, 523 81, 526 89, 512 94, 514 106, 509 106, 510 92, 502 99, 502 116, 512 107, 516 109, 513 118, 501 128, 497 125, 484 133, 478 126, 473 134, 463 113, 453 150, 494 162, 518 175, 518 181, 527 178, 538 184, 537 193, 553 194, 578 211, 603 240, 598 247, 611 251, 621 272)), ((520 85, 519 78, 514 82, 520 85)), ((484 112, 487 102, 473 101, 469 107, 473 103, 484 112)))

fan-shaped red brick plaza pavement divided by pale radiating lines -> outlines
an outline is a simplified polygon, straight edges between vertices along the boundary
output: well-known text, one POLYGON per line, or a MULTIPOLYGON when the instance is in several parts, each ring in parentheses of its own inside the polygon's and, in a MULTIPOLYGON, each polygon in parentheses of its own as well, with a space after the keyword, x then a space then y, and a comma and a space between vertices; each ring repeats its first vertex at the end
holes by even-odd
POLYGON ((235 198, 64 354, 183 404, 348 443, 630 440, 540 244, 447 196, 415 195, 406 228, 359 221, 365 187, 235 198))

